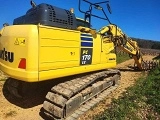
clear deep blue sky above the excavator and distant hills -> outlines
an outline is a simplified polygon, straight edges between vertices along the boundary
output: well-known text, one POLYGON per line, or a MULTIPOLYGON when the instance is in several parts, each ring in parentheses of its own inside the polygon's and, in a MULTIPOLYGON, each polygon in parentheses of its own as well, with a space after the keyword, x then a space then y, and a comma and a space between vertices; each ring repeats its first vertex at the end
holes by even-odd
MULTIPOLYGON (((63 9, 74 8, 77 17, 84 18, 78 10, 79 0, 34 0, 38 5, 47 3, 63 9)), ((93 3, 104 0, 89 0, 93 3)), ((129 37, 160 41, 160 0, 109 0, 112 14, 105 5, 104 10, 111 21, 122 29, 129 37)), ((24 15, 31 8, 30 0, 0 0, 0 28, 3 23, 13 24, 13 20, 24 15)), ((88 10, 88 4, 81 4, 82 10, 88 10)), ((104 17, 101 11, 93 10, 93 14, 104 17)), ((92 27, 96 30, 109 23, 93 18, 92 27)))

